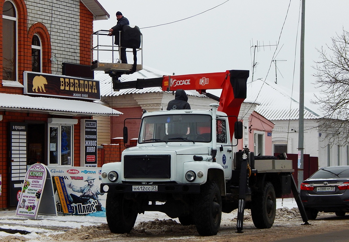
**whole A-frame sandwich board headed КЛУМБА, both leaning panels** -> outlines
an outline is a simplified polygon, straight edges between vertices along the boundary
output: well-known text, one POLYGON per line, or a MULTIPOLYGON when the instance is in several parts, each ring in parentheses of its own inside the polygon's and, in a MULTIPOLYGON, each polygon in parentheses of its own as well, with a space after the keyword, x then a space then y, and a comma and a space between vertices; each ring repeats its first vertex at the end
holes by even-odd
POLYGON ((53 194, 49 170, 44 164, 33 164, 25 174, 16 215, 34 219, 37 218, 38 214, 57 216, 53 194), (41 202, 43 206, 40 206, 41 202))

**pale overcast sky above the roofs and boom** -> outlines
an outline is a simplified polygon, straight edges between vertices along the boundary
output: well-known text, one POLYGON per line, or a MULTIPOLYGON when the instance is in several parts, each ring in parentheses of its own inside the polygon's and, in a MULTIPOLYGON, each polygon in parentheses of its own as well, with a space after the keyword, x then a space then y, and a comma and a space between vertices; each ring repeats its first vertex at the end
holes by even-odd
MULTIPOLYGON (((145 66, 177 75, 250 70, 250 82, 255 56, 254 62, 258 64, 253 79, 275 81, 273 60, 276 59, 277 84, 292 88, 294 83, 295 90, 299 90, 300 0, 98 1, 110 19, 94 21, 94 31, 110 29, 116 24, 116 12, 121 11, 131 25, 141 28, 145 66), (211 8, 214 9, 206 11, 211 8), (145 28, 199 13, 202 14, 176 23, 145 28), (252 47, 278 42, 277 49, 276 46, 252 47), (274 53, 278 54, 274 56, 274 53)), ((343 28, 349 30, 348 9, 348 0, 306 0, 306 92, 318 91, 312 84, 315 81, 312 66, 319 60, 316 49, 331 45, 331 37, 340 35, 343 28)), ((131 63, 132 56, 128 60, 131 63)))

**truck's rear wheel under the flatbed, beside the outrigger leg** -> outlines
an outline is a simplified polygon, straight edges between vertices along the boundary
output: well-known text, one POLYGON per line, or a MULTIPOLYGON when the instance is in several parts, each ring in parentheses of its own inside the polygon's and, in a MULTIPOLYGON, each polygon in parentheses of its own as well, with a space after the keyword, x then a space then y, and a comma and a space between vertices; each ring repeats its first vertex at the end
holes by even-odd
POLYGON ((254 194, 251 200, 251 216, 256 228, 270 228, 274 224, 276 196, 272 183, 267 182, 261 193, 254 194))

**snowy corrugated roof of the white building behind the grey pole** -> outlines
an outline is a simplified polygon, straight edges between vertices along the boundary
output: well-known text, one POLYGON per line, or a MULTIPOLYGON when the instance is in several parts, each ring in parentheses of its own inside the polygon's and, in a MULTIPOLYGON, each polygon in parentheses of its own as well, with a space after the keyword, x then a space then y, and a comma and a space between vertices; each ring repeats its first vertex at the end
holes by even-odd
MULTIPOLYGON (((260 103, 256 111, 268 120, 299 119, 299 94, 274 82, 255 80, 247 84, 247 98, 260 103)), ((310 103, 304 102, 304 119, 317 119, 321 114, 310 103)))

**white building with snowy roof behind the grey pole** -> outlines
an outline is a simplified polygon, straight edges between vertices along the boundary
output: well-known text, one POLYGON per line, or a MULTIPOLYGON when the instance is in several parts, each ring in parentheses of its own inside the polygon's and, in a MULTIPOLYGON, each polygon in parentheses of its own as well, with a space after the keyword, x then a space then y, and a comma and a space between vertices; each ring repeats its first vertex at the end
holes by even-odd
MULTIPOLYGON (((298 153, 299 94, 274 82, 255 80, 248 83, 248 99, 260 105, 256 111, 275 123, 273 152, 298 153)), ((306 96, 306 95, 305 95, 306 96)), ((348 165, 349 145, 329 145, 326 132, 319 130, 319 118, 323 114, 310 103, 312 95, 304 100, 304 154, 317 156, 319 167, 348 165)))

